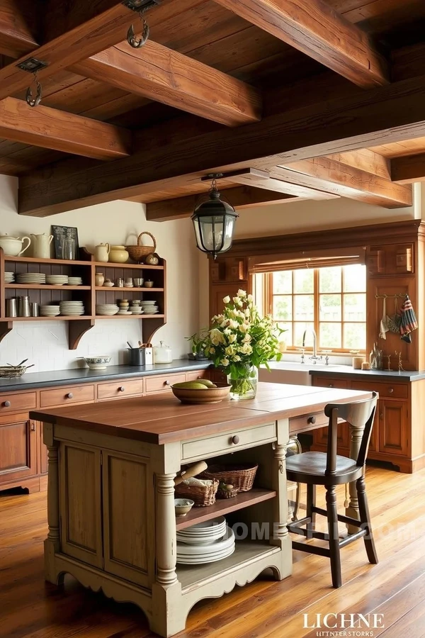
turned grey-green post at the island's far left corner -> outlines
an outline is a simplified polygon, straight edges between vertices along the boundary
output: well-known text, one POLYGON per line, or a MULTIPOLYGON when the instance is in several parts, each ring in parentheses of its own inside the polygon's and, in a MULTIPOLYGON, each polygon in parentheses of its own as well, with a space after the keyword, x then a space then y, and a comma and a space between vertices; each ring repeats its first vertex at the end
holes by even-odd
POLYGON ((55 554, 60 552, 59 513, 59 442, 53 439, 53 425, 43 424, 43 440, 47 445, 47 522, 49 532, 45 539, 45 579, 54 585, 63 582, 55 569, 55 554))

